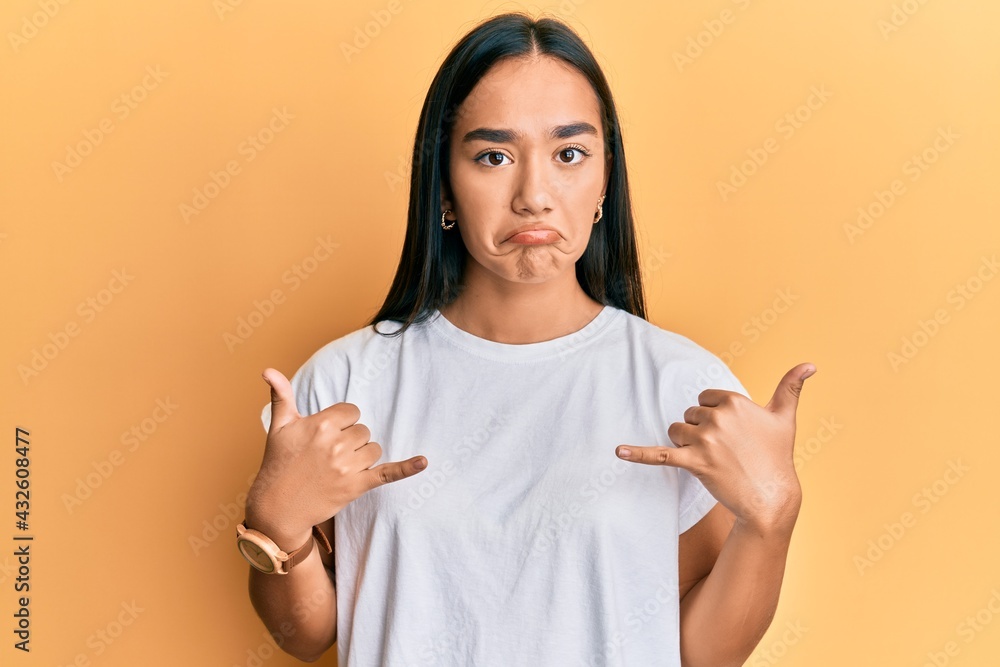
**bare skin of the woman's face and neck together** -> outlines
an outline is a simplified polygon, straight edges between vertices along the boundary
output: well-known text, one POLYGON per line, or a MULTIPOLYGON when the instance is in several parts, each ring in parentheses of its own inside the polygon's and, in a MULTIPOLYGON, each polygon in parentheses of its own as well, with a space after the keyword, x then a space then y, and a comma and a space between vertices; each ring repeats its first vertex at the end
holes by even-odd
POLYGON ((587 79, 549 57, 500 62, 463 102, 449 143, 453 194, 443 190, 441 206, 458 224, 441 231, 461 234, 469 261, 465 289, 442 315, 481 338, 511 344, 583 328, 603 306, 580 287, 575 265, 610 172, 598 100, 587 79), (581 121, 596 134, 549 137, 550 128, 581 121), (478 128, 523 136, 464 141, 478 128), (558 240, 506 240, 515 228, 535 222, 555 230, 558 240))

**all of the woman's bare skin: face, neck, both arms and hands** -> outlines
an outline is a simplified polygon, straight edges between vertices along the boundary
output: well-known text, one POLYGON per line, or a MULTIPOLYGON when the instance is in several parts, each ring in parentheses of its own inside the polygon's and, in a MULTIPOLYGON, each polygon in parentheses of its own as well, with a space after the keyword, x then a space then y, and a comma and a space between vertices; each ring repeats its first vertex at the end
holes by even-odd
MULTIPOLYGON (((496 64, 458 110, 450 136, 447 220, 457 220, 468 251, 464 289, 441 308, 453 324, 509 344, 552 340, 579 331, 602 309, 576 280, 605 193, 598 100, 586 78, 546 56, 496 64), (552 138, 556 126, 589 123, 595 134, 552 138), (515 136, 465 141, 481 129, 515 136), (589 155, 588 155, 589 153, 589 155), (539 223, 557 238, 520 245, 515 228, 539 223)), ((739 394, 706 390, 684 423, 670 426, 678 447, 622 445, 616 453, 643 465, 674 465, 696 474, 720 502, 679 537, 681 654, 685 667, 742 665, 777 605, 801 489, 792 465, 800 364, 761 407, 739 394), (626 455, 629 450, 629 455, 626 455), (761 494, 757 483, 770 480, 761 494)), ((423 456, 374 465, 378 443, 339 403, 302 417, 288 379, 268 368, 272 420, 258 479, 247 498, 247 525, 283 549, 309 539, 313 524, 332 537, 342 507, 368 490, 415 475, 423 456)), ((333 560, 314 549, 287 575, 250 568, 250 597, 282 649, 314 661, 336 640, 333 560), (296 607, 312 599, 304 609, 296 607)))

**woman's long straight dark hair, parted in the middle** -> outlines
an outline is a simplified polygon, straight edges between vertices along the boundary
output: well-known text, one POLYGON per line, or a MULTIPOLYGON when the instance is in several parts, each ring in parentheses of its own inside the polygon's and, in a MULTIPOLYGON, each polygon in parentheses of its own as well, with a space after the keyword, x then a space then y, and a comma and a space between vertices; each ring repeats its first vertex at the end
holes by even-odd
POLYGON ((590 81, 600 103, 605 156, 612 161, 604 215, 593 226, 587 248, 577 260, 577 280, 595 301, 646 319, 625 149, 608 82, 590 49, 569 26, 513 12, 487 19, 467 33, 445 58, 427 91, 413 142, 406 239, 389 294, 367 323, 395 320, 404 324, 392 333, 376 329, 379 334, 402 334, 414 322, 430 317, 434 308, 458 297, 465 244, 458 234, 440 225, 442 185, 446 193, 450 191, 447 141, 451 128, 459 106, 493 65, 502 58, 533 54, 559 58, 590 81))

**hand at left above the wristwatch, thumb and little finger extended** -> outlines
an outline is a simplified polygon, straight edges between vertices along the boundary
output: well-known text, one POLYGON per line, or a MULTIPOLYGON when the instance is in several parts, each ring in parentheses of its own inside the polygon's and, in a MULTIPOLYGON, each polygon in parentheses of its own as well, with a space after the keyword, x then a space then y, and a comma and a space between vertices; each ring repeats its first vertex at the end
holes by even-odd
POLYGON ((374 464, 382 447, 357 423, 361 410, 337 403, 302 417, 292 385, 272 368, 263 373, 271 386, 271 424, 264 459, 247 493, 246 522, 292 549, 309 539, 314 525, 377 486, 415 475, 427 459, 374 464))

